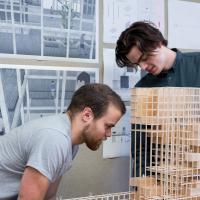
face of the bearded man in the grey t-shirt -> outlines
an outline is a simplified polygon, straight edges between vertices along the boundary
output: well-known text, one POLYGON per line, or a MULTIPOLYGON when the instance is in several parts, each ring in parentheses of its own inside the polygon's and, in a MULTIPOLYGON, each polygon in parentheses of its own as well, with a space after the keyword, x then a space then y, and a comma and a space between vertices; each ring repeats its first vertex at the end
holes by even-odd
POLYGON ((107 112, 98 119, 92 121, 85 127, 83 138, 87 147, 95 151, 99 148, 103 140, 111 136, 111 129, 119 121, 122 114, 120 110, 110 104, 107 112))

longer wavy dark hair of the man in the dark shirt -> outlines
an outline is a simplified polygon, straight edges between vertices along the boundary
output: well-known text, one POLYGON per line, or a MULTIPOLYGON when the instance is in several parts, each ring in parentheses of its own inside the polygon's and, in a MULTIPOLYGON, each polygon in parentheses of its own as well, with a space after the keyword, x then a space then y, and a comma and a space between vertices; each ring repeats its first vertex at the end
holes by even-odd
POLYGON ((151 22, 139 21, 124 30, 115 49, 116 63, 119 67, 133 67, 126 57, 132 47, 136 46, 141 53, 151 53, 160 45, 167 46, 167 40, 151 22))

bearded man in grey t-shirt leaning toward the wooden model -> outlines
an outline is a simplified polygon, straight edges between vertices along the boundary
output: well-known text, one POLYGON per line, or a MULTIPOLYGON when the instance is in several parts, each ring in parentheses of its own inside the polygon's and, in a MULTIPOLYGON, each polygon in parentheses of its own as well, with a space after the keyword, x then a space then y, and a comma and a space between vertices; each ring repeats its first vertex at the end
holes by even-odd
POLYGON ((0 136, 0 200, 53 199, 78 145, 97 150, 126 112, 104 84, 79 88, 64 114, 29 121, 0 136))

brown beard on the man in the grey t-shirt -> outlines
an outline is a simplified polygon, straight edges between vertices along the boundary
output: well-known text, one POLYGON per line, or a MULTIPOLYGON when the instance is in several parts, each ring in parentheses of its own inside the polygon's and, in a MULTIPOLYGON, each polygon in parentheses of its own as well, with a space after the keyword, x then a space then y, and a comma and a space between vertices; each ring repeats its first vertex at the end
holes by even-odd
POLYGON ((92 151, 99 149, 102 144, 102 140, 95 140, 93 137, 93 131, 90 130, 89 126, 87 126, 84 130, 83 139, 86 146, 92 151))

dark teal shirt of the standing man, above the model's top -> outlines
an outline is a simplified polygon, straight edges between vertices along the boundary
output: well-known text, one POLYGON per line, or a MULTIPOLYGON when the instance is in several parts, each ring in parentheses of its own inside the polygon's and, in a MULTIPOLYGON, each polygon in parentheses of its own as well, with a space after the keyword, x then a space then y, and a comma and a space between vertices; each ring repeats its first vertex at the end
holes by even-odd
POLYGON ((147 74, 135 87, 200 87, 200 52, 172 50, 177 53, 172 68, 156 76, 147 74))

